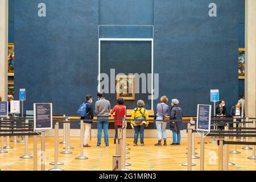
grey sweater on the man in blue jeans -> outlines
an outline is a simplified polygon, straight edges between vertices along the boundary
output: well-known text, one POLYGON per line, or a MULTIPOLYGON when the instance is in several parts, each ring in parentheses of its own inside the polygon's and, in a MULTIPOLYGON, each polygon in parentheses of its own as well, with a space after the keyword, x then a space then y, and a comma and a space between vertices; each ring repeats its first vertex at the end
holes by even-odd
POLYGON ((97 117, 105 116, 108 117, 110 112, 110 102, 105 100, 105 98, 101 98, 95 103, 95 113, 97 117))

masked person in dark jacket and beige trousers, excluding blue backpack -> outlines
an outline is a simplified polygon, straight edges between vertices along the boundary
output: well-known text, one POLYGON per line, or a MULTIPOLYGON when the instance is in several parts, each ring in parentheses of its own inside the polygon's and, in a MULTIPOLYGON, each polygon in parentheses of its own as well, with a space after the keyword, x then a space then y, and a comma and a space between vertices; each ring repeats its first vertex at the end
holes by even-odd
POLYGON ((90 147, 88 144, 88 139, 89 139, 89 135, 90 135, 90 129, 92 128, 92 119, 93 119, 93 108, 92 108, 92 101, 93 98, 91 95, 87 95, 86 96, 86 116, 85 117, 81 117, 81 120, 85 120, 84 121, 84 147, 90 147))

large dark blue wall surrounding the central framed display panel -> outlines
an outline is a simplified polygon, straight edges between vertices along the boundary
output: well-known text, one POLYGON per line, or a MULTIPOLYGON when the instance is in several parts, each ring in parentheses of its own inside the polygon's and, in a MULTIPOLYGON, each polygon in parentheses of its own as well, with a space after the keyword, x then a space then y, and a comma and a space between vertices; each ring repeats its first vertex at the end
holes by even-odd
POLYGON ((54 114, 76 115, 85 94, 96 98, 98 24, 154 24, 160 96, 196 115, 196 104, 209 104, 209 89, 217 88, 230 107, 238 95, 240 1, 214 1, 216 18, 208 16, 209 0, 15 1, 15 91, 27 89, 26 110, 53 102, 54 114), (38 17, 40 2, 46 18, 38 17))

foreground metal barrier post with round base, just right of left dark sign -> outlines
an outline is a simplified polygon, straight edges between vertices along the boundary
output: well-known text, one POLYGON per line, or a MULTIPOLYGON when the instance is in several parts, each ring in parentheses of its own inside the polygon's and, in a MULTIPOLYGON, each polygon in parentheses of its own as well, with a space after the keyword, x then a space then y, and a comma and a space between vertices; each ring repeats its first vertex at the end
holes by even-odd
MULTIPOLYGON (((54 128, 55 134, 54 134, 54 162, 50 163, 50 165, 54 165, 54 168, 49 169, 48 171, 63 171, 63 169, 58 168, 58 164, 61 162, 58 162, 58 155, 59 155, 59 123, 55 123, 54 128)), ((63 163, 61 163, 63 164, 63 163)))

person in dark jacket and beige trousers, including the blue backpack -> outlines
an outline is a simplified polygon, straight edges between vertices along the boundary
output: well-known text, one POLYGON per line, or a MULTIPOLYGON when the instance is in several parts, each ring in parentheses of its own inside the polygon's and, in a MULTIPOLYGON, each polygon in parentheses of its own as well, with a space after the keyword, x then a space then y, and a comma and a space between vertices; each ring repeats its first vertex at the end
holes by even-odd
POLYGON ((90 135, 90 129, 92 128, 93 119, 93 98, 91 95, 86 96, 86 101, 79 107, 78 113, 80 114, 80 119, 84 121, 84 147, 90 147, 88 144, 88 139, 90 135))

